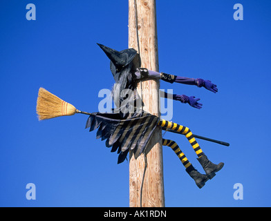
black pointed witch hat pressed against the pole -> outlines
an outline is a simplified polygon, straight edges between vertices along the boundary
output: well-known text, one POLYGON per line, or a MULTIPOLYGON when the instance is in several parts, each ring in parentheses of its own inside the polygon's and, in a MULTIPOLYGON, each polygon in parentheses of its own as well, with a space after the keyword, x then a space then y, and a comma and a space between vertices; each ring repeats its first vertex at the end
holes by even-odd
POLYGON ((137 54, 137 51, 133 48, 125 49, 125 50, 115 50, 109 47, 106 47, 102 44, 98 44, 100 48, 104 51, 107 57, 110 59, 110 69, 111 73, 113 74, 113 77, 115 81, 118 81, 116 77, 118 78, 119 73, 133 61, 134 57, 137 54))

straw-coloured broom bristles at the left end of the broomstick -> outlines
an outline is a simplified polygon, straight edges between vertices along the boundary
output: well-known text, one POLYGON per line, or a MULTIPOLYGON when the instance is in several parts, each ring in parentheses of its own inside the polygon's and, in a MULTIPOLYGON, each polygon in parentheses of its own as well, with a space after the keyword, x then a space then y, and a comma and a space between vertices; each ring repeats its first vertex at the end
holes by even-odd
POLYGON ((71 116, 77 113, 75 106, 53 95, 44 88, 39 88, 37 97, 37 115, 39 120, 61 116, 71 116))

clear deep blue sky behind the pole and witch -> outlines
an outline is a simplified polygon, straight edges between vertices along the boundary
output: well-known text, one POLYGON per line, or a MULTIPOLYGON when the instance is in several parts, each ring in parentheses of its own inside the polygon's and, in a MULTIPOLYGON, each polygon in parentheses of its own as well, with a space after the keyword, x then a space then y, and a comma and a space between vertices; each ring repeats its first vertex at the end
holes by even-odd
MULTIPOLYGON (((160 71, 210 79, 204 88, 161 83, 195 95, 201 110, 174 102, 173 121, 198 135, 230 142, 226 148, 198 140, 224 168, 198 189, 175 153, 163 149, 166 206, 271 206, 270 1, 157 1, 160 71), (242 3, 244 20, 233 19, 242 3), (234 184, 243 200, 234 200, 234 184)), ((0 206, 129 206, 129 164, 95 132, 87 116, 39 122, 37 92, 44 87, 83 111, 95 112, 102 88, 113 86, 109 59, 96 42, 128 47, 128 1, 19 1, 0 3, 0 206), (26 19, 35 3, 37 20, 26 19), (26 200, 26 184, 37 200, 26 200)), ((201 173, 196 154, 176 140, 201 173)))

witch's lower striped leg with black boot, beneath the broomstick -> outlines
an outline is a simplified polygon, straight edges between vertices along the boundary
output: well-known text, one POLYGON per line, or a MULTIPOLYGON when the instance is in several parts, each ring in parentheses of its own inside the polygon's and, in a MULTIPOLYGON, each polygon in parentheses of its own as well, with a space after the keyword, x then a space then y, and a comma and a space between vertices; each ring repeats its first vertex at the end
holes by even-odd
POLYGON ((179 157, 183 166, 185 166, 185 171, 187 171, 187 173, 194 179, 198 188, 202 188, 205 185, 205 182, 209 180, 207 175, 203 175, 199 173, 198 171, 196 171, 196 169, 194 169, 194 166, 192 166, 189 160, 187 160, 187 157, 185 156, 185 154, 182 151, 180 151, 180 148, 176 142, 174 142, 173 140, 163 139, 162 144, 163 146, 171 147, 171 149, 179 157))

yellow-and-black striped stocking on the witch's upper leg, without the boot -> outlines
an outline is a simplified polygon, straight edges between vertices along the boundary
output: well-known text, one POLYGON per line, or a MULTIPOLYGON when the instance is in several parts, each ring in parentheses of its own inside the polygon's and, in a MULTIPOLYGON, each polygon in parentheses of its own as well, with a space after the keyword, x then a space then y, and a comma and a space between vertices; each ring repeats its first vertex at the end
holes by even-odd
POLYGON ((185 135, 191 146, 194 148, 196 155, 198 155, 198 157, 201 157, 203 155, 203 151, 201 150, 200 145, 198 145, 198 142, 196 142, 195 137, 193 136, 192 132, 188 127, 169 122, 165 119, 160 120, 160 122, 158 122, 158 125, 161 126, 163 130, 174 131, 185 135))

